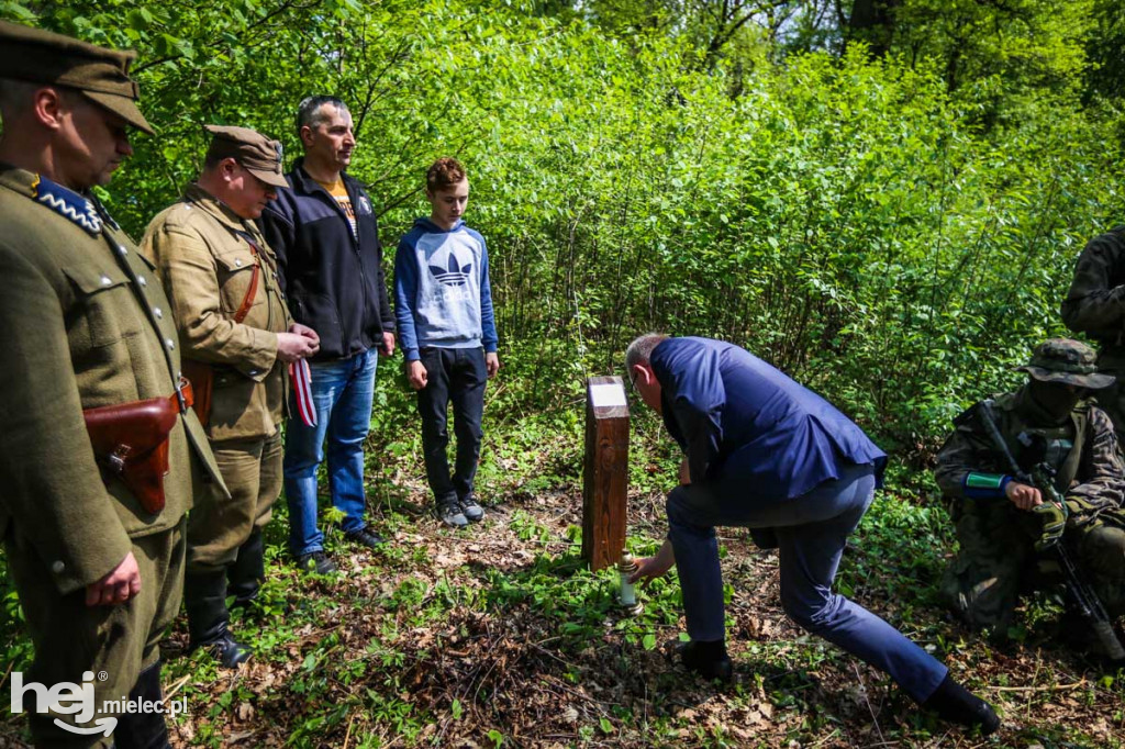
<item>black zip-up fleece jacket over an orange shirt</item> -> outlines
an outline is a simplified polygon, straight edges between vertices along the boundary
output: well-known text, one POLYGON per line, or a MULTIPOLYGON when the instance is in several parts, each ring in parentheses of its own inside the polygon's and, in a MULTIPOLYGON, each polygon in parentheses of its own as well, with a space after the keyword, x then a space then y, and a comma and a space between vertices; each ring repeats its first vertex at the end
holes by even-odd
POLYGON ((303 163, 294 163, 286 174, 289 189, 278 190, 259 219, 278 256, 289 312, 321 336, 313 361, 381 350, 384 331, 395 332, 395 317, 371 200, 357 180, 341 174, 356 214, 357 240, 340 204, 303 163))

